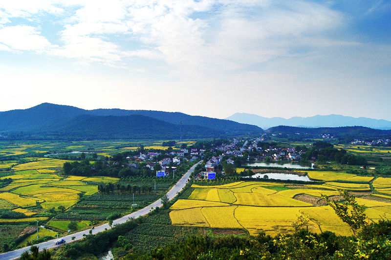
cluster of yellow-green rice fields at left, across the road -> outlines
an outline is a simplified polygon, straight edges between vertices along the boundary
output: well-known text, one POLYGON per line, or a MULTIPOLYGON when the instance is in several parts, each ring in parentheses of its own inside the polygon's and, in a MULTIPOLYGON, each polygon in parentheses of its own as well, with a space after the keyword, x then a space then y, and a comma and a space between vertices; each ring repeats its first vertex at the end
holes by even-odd
POLYGON ((53 207, 57 209, 59 206, 68 208, 78 202, 80 194, 88 196, 98 192, 97 185, 87 184, 86 181, 107 183, 118 180, 109 177, 78 176, 62 180, 63 177, 55 174, 56 169, 53 168, 62 167, 66 160, 23 158, 23 161, 27 162, 17 164, 14 161, 7 161, 7 166, 13 166, 14 175, 1 179, 10 178, 13 181, 0 188, 0 209, 12 209, 26 215, 26 218, 16 220, 17 222, 31 221, 29 217, 37 214, 28 210, 31 206, 41 205, 45 210, 53 207))

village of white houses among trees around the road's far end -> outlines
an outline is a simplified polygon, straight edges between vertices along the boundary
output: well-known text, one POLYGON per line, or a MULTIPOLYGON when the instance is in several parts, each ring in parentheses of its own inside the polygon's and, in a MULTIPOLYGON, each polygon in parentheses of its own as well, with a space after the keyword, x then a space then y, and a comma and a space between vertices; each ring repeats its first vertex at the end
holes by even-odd
MULTIPOLYGON (((298 161, 301 160, 302 150, 295 148, 280 148, 263 142, 262 138, 254 140, 237 140, 210 148, 195 148, 194 145, 174 150, 169 147, 165 152, 162 150, 139 152, 137 155, 128 156, 128 161, 123 167, 132 170, 147 168, 158 178, 174 175, 176 168, 184 161, 203 160, 202 170, 195 171, 195 179, 214 180, 218 174, 224 175, 224 169, 229 167, 240 167, 248 162, 257 161, 298 161)), ((118 163, 118 162, 116 162, 118 163)))

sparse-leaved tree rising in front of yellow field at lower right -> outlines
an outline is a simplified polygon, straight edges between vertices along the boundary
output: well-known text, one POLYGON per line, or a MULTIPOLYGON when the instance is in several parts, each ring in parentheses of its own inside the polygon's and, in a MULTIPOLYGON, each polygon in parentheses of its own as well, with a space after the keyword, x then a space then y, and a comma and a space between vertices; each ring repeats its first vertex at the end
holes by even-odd
POLYGON ((330 200, 328 196, 323 195, 322 198, 327 201, 327 204, 330 205, 338 217, 347 223, 350 229, 353 231, 353 234, 356 235, 357 231, 367 226, 367 216, 364 213, 365 207, 359 205, 356 202, 354 196, 350 196, 347 191, 341 192, 345 203, 330 200))

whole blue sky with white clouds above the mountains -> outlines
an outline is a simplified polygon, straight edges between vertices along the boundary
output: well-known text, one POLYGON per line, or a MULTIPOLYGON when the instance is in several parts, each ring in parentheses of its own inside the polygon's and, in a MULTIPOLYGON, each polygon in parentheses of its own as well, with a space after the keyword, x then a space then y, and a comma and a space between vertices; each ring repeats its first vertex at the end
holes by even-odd
POLYGON ((0 0, 0 111, 391 120, 389 0, 0 0))

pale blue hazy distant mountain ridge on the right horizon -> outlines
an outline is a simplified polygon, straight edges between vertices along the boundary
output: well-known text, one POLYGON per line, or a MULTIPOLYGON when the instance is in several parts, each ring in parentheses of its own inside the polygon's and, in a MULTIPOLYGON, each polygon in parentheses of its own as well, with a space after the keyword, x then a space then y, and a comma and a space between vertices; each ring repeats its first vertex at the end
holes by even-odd
POLYGON ((274 126, 286 125, 297 127, 343 127, 343 126, 364 126, 373 129, 391 129, 391 121, 383 119, 371 119, 371 118, 353 118, 342 115, 328 115, 328 116, 313 116, 313 117, 292 117, 290 119, 284 119, 280 117, 265 118, 254 114, 247 113, 235 113, 234 115, 226 118, 239 123, 257 125, 263 129, 268 129, 274 126))

